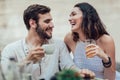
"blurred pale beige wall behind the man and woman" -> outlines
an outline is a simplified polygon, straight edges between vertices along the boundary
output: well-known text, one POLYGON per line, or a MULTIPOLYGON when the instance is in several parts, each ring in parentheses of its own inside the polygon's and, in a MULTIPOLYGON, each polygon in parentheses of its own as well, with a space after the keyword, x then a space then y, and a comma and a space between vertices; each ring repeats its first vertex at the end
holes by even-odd
POLYGON ((120 0, 0 0, 0 50, 8 43, 26 36, 23 11, 34 3, 47 5, 52 9, 55 25, 53 37, 63 40, 71 28, 68 22, 70 11, 78 2, 88 2, 96 8, 108 32, 114 38, 116 62, 120 63, 120 0))

